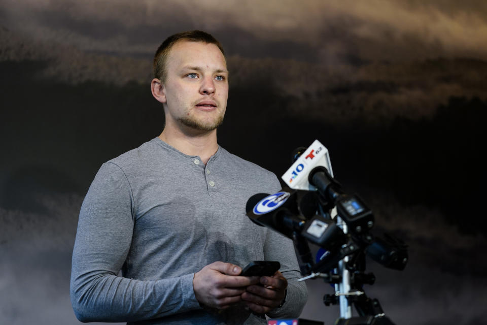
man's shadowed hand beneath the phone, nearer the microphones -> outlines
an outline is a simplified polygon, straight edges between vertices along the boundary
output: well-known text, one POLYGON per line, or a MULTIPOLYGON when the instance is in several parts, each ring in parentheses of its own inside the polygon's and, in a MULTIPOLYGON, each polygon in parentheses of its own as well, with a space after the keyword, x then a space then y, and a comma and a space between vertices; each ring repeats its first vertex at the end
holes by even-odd
POLYGON ((265 314, 275 307, 279 307, 284 300, 288 281, 277 271, 273 276, 260 277, 262 285, 250 285, 242 294, 242 300, 249 308, 260 314, 265 314))

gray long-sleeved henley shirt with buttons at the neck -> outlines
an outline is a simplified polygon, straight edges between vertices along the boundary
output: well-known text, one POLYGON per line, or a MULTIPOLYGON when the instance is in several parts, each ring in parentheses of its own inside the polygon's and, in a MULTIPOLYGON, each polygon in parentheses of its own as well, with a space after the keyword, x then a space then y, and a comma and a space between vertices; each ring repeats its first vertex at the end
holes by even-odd
POLYGON ((71 301, 81 321, 129 324, 265 324, 244 304, 201 307, 193 275, 216 261, 281 263, 286 303, 306 302, 292 241, 246 216, 247 200, 280 189, 275 175, 219 147, 204 165, 159 138, 103 164, 81 207, 71 301), (121 271, 121 275, 119 272, 121 271))

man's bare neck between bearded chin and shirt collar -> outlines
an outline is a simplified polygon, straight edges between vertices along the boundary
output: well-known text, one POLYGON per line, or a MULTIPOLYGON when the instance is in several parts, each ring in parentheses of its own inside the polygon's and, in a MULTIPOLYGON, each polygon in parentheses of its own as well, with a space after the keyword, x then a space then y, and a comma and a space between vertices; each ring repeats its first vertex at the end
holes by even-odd
POLYGON ((218 150, 216 129, 207 132, 182 132, 166 125, 159 139, 184 154, 199 156, 205 165, 218 150))

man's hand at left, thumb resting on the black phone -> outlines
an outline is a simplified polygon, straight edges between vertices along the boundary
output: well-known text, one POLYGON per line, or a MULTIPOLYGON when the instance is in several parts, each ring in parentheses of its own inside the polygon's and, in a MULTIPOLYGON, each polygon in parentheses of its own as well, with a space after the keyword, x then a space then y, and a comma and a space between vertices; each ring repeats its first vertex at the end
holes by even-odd
POLYGON ((228 308, 241 301, 246 287, 259 283, 259 277, 237 276, 240 272, 240 267, 230 263, 214 262, 205 266, 193 277, 196 300, 218 309, 228 308))

